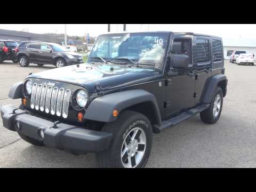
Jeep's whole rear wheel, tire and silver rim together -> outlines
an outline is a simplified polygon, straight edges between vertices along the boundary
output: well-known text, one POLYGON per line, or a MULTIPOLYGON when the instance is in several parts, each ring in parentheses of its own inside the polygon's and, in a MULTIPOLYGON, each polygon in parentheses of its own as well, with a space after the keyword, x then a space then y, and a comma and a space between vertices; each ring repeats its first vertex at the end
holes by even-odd
POLYGON ((210 107, 200 113, 200 118, 204 123, 214 124, 220 118, 223 105, 222 89, 218 86, 214 92, 210 107))

